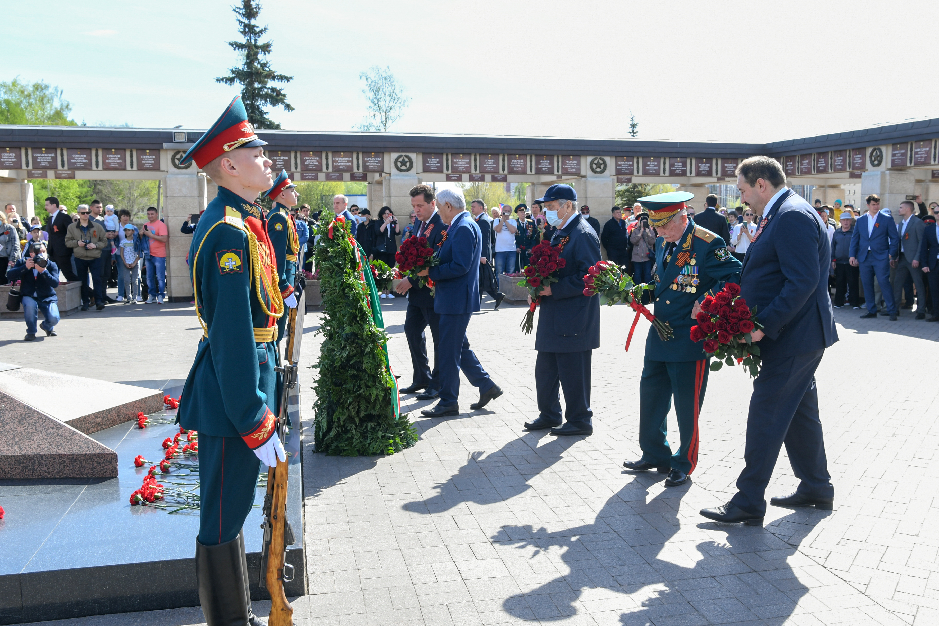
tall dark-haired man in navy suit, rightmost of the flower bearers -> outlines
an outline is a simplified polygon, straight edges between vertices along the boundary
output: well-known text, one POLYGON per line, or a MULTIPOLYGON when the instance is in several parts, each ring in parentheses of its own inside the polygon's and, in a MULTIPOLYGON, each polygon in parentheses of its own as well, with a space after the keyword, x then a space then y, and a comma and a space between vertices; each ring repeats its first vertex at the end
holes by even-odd
POLYGON ((747 466, 737 479, 738 491, 724 506, 700 513, 717 522, 761 525, 763 496, 783 444, 801 482, 795 493, 774 497, 770 504, 832 508, 835 489, 824 453, 815 370, 824 349, 838 341, 838 332, 828 297, 826 224, 786 188, 777 160, 744 160, 737 167, 737 189, 741 202, 762 217, 740 274, 740 296, 756 308, 763 326, 751 333, 759 342, 762 369, 753 382, 747 466))

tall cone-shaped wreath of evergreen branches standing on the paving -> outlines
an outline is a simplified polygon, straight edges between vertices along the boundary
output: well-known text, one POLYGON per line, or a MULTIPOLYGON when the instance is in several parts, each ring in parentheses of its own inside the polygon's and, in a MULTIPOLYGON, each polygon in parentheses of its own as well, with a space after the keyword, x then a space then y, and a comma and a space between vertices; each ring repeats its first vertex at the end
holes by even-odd
MULTIPOLYGON (((328 209, 327 209, 328 210, 328 209)), ((342 218, 319 222, 315 247, 323 297, 323 335, 314 405, 316 451, 344 456, 393 454, 417 434, 401 415, 388 361, 378 291, 368 257, 342 218)))

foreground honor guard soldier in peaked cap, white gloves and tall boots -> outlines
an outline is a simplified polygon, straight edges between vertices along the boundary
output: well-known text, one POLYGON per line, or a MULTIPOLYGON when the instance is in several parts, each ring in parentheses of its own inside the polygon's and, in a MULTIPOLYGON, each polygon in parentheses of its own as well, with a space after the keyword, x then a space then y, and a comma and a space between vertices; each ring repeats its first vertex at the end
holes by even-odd
POLYGON ((252 624, 241 527, 261 463, 285 460, 275 432, 277 320, 284 314, 267 221, 254 198, 271 186, 266 142, 240 96, 180 160, 219 186, 192 237, 189 266, 203 328, 178 421, 199 432, 199 602, 209 626, 252 624))

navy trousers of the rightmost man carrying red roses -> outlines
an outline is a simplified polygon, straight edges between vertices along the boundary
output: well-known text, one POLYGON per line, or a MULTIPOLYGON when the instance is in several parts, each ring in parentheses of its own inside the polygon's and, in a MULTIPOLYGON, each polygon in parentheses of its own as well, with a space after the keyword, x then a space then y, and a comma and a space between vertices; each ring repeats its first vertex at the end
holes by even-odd
POLYGON ((760 375, 753 381, 747 416, 747 466, 737 479, 739 491, 731 498, 744 511, 765 514, 766 485, 783 444, 793 474, 801 481, 797 493, 835 495, 824 453, 815 386, 815 370, 823 355, 824 349, 783 359, 763 359, 760 375))

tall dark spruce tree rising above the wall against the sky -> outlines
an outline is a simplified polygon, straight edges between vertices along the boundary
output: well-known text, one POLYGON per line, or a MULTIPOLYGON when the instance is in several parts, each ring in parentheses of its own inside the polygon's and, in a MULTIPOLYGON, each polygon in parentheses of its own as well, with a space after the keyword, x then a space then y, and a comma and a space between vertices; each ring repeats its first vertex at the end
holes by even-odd
POLYGON ((273 44, 270 41, 261 43, 268 27, 260 27, 254 23, 261 14, 261 5, 254 0, 241 0, 241 6, 233 7, 232 10, 238 16, 239 32, 244 41, 229 41, 228 45, 243 56, 244 62, 240 68, 232 68, 227 76, 215 80, 222 84, 241 85, 241 99, 248 113, 248 121, 255 129, 279 129, 281 125, 268 118, 264 106, 280 106, 284 107, 285 111, 294 110, 287 102, 286 94, 271 85, 289 83, 293 76, 278 74, 270 69, 270 62, 265 58, 273 44))

